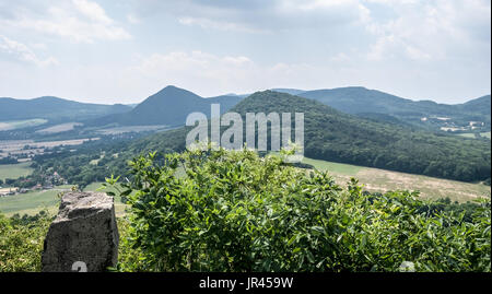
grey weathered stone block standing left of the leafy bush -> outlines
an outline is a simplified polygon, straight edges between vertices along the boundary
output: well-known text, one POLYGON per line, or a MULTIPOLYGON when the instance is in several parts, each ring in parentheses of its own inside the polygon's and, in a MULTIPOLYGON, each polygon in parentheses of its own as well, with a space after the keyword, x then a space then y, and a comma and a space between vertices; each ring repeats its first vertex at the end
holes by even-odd
POLYGON ((118 242, 113 197, 67 192, 45 239, 43 271, 105 271, 116 266, 118 242))

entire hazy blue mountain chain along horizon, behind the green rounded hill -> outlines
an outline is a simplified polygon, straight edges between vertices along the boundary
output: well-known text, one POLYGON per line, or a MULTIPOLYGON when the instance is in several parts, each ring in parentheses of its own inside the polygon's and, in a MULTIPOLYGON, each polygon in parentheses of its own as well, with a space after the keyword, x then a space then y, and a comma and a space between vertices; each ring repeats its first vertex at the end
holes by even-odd
MULTIPOLYGON (((315 99, 342 113, 391 125, 438 130, 443 129, 443 126, 464 129, 472 121, 480 121, 483 122, 479 124, 480 131, 490 130, 491 125, 490 95, 464 104, 447 105, 432 101, 411 101, 363 86, 312 91, 285 87, 274 91, 315 99), (450 120, 441 120, 443 118, 450 120)), ((224 113, 249 95, 227 94, 204 98, 169 85, 132 106, 84 104, 52 96, 31 101, 0 98, 0 121, 47 118, 51 121, 77 120, 92 127, 108 125, 176 127, 185 125, 186 117, 190 113, 200 111, 210 117, 211 104, 221 104, 221 111, 224 113)))

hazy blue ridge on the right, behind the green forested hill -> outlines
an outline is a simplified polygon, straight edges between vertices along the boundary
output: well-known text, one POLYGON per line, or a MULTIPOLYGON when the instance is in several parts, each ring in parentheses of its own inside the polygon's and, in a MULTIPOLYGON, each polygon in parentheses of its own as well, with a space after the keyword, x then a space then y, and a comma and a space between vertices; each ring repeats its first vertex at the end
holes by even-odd
POLYGON ((315 99, 345 114, 393 122, 399 120, 402 126, 471 131, 469 125, 472 121, 480 121, 484 124, 481 125, 482 130, 490 131, 491 127, 490 95, 453 105, 433 101, 411 101, 363 86, 313 91, 278 89, 276 91, 315 99), (440 121, 442 118, 448 120, 440 121))

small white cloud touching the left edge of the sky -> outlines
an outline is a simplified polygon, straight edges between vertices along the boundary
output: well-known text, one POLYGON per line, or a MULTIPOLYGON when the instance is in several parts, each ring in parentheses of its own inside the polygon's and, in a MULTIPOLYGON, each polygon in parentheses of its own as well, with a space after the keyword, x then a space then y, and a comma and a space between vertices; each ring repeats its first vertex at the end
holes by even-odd
POLYGON ((34 63, 38 67, 58 64, 58 61, 55 58, 48 57, 47 59, 39 59, 26 45, 2 35, 0 35, 0 54, 12 56, 16 60, 34 63))

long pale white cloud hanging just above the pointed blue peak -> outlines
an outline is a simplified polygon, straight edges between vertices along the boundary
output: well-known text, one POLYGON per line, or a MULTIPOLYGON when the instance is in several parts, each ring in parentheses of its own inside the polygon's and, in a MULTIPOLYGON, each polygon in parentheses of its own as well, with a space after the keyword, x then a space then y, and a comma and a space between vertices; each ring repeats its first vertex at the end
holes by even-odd
POLYGON ((174 84, 201 95, 247 93, 276 86, 324 87, 339 72, 323 66, 278 62, 260 64, 245 56, 174 51, 143 57, 124 72, 122 80, 159 91, 174 84))

